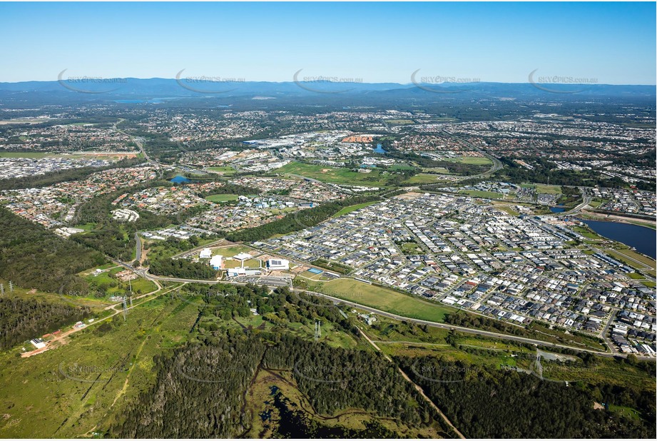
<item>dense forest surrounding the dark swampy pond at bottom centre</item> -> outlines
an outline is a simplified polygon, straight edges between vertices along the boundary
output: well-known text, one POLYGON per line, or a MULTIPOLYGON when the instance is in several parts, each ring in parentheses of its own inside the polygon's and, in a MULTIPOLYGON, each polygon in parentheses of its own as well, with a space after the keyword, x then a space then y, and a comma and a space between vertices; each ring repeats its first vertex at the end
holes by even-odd
MULTIPOLYGON (((442 427, 432 407, 379 353, 330 348, 284 332, 287 323, 312 323, 322 318, 335 320, 359 339, 357 329, 330 301, 290 293, 287 288, 270 293, 268 288, 255 285, 190 284, 180 295, 202 298, 198 305, 201 315, 230 320, 250 315, 249 308, 255 307, 261 315, 277 316, 281 323, 272 328, 273 332, 238 331, 215 322, 202 325, 198 343, 156 358, 156 385, 131 402, 122 421, 111 427, 112 436, 240 437, 257 417, 243 412, 243 400, 260 369, 290 372, 299 390, 322 414, 358 408, 410 427, 442 427)), ((326 430, 302 412, 292 412, 285 406, 285 397, 275 394, 274 400, 285 417, 305 427, 305 434, 326 430)), ((337 430, 332 432, 336 436, 399 437, 375 420, 367 422, 363 431, 337 430)), ((445 437, 450 436, 444 427, 442 430, 445 437)), ((286 433, 293 435, 285 431, 279 435, 286 433)))

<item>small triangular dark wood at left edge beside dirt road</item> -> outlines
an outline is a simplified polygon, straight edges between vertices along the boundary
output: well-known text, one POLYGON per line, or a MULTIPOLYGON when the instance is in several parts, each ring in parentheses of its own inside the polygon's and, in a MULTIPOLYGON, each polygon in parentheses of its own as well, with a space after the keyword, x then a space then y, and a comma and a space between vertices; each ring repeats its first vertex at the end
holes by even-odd
POLYGON ((0 349, 39 338, 91 315, 91 310, 35 298, 0 296, 0 349))

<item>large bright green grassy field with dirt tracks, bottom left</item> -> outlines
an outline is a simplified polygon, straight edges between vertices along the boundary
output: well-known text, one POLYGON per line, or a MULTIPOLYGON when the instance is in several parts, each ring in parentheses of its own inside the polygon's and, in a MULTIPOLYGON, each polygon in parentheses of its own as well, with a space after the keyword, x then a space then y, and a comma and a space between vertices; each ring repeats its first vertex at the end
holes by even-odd
POLYGON ((89 325, 66 344, 0 353, 0 437, 91 437, 153 384, 153 357, 190 338, 198 309, 168 297, 89 325), (98 425, 98 427, 96 426, 98 425))

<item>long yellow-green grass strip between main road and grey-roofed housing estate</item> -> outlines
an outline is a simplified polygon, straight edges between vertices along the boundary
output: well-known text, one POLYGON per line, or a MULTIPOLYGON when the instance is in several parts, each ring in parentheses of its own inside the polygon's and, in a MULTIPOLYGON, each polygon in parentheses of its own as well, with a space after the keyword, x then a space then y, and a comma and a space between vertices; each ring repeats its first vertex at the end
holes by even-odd
POLYGON ((410 318, 442 322, 445 314, 454 311, 454 308, 429 303, 388 288, 368 285, 348 278, 335 279, 324 283, 311 283, 310 286, 320 293, 410 318))

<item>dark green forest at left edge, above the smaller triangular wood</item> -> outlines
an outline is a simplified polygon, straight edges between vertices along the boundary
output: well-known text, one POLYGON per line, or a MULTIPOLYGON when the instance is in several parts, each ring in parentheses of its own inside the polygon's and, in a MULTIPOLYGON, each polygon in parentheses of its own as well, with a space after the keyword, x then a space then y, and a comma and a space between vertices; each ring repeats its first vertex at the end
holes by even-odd
POLYGON ((86 293, 88 284, 77 273, 106 262, 97 250, 63 239, 1 207, 0 230, 0 278, 24 288, 86 293))

